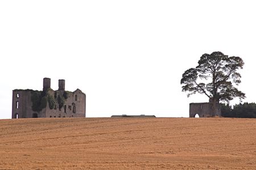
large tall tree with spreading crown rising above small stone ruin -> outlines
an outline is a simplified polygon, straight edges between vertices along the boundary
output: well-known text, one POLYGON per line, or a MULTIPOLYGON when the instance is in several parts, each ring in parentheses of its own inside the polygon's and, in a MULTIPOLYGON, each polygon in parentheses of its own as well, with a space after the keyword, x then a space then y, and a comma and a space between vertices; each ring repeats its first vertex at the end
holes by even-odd
POLYGON ((196 68, 185 71, 180 84, 182 91, 192 94, 204 94, 213 104, 216 112, 216 103, 229 103, 234 97, 245 98, 245 94, 237 89, 241 83, 241 75, 237 71, 243 69, 244 62, 240 57, 228 57, 221 52, 203 54, 196 68))

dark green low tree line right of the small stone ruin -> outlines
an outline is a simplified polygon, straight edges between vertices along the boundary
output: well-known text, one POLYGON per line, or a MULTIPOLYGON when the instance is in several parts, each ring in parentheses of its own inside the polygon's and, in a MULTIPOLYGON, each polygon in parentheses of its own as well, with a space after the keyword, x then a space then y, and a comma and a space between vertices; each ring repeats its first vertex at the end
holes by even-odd
POLYGON ((221 104, 222 117, 256 118, 255 103, 240 103, 233 106, 221 104))

